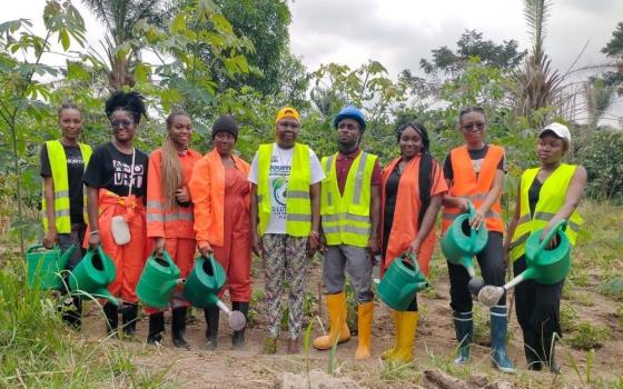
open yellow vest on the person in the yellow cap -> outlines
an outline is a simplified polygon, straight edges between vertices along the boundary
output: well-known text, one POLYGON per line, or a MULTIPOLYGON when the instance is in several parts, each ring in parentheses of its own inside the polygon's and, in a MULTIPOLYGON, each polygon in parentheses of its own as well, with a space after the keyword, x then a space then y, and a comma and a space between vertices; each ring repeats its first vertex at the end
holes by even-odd
MULTIPOLYGON (((275 144, 260 144, 257 150, 258 184, 257 208, 259 217, 259 235, 264 235, 270 220, 270 186, 268 173, 275 144)), ((312 201, 309 186, 312 184, 312 162, 309 148, 295 143, 293 163, 288 176, 286 190, 286 233, 290 237, 307 237, 312 231, 312 201)))

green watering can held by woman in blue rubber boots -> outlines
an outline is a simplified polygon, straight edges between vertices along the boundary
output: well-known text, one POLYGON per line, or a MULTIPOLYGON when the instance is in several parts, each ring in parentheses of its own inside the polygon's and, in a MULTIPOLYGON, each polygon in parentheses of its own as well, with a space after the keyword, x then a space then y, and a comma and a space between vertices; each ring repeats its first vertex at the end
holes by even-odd
POLYGON ((442 252, 448 262, 461 265, 467 270, 471 278, 469 291, 477 295, 484 282, 481 279, 476 279, 476 270, 474 269, 472 258, 485 248, 488 241, 488 231, 484 223, 479 228, 469 226, 469 220, 474 218, 475 212, 474 205, 468 202, 467 212, 454 219, 446 233, 442 237, 441 246, 442 252))

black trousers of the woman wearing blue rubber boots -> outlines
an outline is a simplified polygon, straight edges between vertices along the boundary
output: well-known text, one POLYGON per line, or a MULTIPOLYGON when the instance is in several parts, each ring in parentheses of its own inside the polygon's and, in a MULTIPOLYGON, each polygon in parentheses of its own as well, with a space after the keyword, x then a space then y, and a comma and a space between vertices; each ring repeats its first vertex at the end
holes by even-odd
MULTIPOLYGON (((503 262, 502 232, 488 231, 488 241, 483 251, 476 255, 481 273, 486 285, 502 287, 505 282, 503 262)), ((461 265, 447 262, 449 275, 449 306, 455 312, 471 312, 473 302, 472 293, 467 288, 469 275, 461 265)), ((506 293, 502 296, 500 306, 506 305, 506 293)))

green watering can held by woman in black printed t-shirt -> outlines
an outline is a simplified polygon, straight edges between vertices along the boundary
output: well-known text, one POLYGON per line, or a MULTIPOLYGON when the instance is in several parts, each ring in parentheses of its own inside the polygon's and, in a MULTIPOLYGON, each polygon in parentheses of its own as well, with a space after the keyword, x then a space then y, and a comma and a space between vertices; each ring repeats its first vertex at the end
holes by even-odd
POLYGON ((69 289, 73 295, 91 295, 119 306, 119 301, 106 289, 116 276, 115 262, 103 252, 101 246, 98 246, 96 250, 87 250, 85 258, 71 271, 69 289))

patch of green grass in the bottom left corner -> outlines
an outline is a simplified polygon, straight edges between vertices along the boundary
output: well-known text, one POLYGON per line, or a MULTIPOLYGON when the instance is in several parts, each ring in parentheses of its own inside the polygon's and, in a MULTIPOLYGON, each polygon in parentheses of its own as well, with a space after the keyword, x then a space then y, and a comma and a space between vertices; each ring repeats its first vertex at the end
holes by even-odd
POLYGON ((26 287, 22 261, 0 269, 0 387, 156 388, 165 372, 145 370, 122 343, 89 341, 67 328, 48 291, 26 287))

